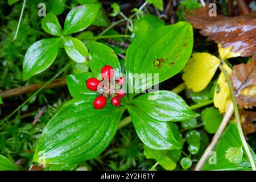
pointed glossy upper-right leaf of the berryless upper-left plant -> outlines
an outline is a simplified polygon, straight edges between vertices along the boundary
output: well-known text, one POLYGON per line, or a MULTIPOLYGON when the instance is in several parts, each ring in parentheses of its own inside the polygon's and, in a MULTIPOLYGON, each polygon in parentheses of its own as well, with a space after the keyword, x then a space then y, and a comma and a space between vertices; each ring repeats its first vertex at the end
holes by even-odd
POLYGON ((64 23, 64 35, 79 32, 88 27, 95 19, 99 4, 82 5, 73 8, 69 11, 64 23))

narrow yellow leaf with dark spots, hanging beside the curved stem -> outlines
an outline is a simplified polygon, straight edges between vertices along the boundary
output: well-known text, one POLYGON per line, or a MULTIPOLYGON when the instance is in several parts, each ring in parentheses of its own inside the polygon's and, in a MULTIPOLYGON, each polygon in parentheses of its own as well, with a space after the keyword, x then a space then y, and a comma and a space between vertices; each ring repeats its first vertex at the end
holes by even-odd
MULTIPOLYGON (((224 64, 224 69, 230 76, 232 73, 232 69, 230 69, 226 64, 224 64)), ((213 104, 215 107, 218 108, 220 113, 225 113, 225 111, 228 109, 230 102, 231 98, 228 82, 226 82, 224 74, 221 73, 220 77, 218 77, 217 85, 214 90, 213 104)))

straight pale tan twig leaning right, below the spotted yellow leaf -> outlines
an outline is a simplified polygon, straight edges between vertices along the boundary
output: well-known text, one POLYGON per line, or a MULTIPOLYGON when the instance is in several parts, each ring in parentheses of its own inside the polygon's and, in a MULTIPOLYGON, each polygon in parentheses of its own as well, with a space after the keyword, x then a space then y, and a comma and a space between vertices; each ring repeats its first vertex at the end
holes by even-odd
POLYGON ((220 139, 220 137, 221 137, 224 129, 228 125, 229 120, 232 117, 233 113, 234 113, 234 107, 233 107, 233 104, 230 103, 228 110, 226 111, 226 114, 225 114, 224 118, 222 119, 220 126, 218 127, 216 134, 212 138, 212 142, 210 142, 209 146, 204 151, 204 154, 201 156, 199 162, 197 163, 197 165, 194 169, 195 171, 200 171, 201 168, 204 166, 205 162, 209 158, 210 152, 214 150, 214 147, 216 146, 218 139, 220 139))

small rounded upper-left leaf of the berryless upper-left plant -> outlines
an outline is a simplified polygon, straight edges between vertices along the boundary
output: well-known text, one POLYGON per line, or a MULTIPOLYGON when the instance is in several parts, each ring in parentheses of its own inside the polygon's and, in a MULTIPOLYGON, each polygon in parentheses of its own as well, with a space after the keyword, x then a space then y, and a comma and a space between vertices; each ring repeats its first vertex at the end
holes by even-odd
POLYGON ((42 19, 41 26, 43 30, 46 31, 48 34, 51 34, 54 36, 62 35, 62 29, 60 27, 59 20, 57 19, 57 16, 53 13, 48 13, 42 19))

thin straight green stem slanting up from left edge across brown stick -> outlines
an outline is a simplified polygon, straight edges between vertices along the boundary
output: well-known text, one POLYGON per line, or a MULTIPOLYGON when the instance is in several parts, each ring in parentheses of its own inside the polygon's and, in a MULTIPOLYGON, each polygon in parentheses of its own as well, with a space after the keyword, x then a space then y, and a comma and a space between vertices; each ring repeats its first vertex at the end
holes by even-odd
POLYGON ((49 85, 53 80, 55 80, 56 77, 58 77, 61 73, 63 73, 67 68, 69 68, 69 66, 72 63, 68 63, 67 65, 65 65, 64 68, 60 69, 59 72, 57 72, 55 74, 55 76, 53 76, 50 80, 48 80, 40 89, 38 89, 38 91, 36 91, 34 94, 32 94, 32 96, 30 96, 25 102, 23 102, 22 105, 20 105, 17 109, 15 109, 11 114, 9 114, 5 119, 3 119, 0 122, 0 125, 2 125, 3 122, 5 122, 7 119, 9 119, 13 114, 16 113, 16 111, 18 111, 23 105, 27 104, 28 101, 31 100, 31 98, 33 98, 34 96, 36 96, 36 94, 38 94, 39 92, 41 92, 47 85, 49 85))

